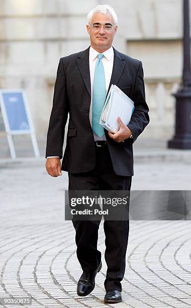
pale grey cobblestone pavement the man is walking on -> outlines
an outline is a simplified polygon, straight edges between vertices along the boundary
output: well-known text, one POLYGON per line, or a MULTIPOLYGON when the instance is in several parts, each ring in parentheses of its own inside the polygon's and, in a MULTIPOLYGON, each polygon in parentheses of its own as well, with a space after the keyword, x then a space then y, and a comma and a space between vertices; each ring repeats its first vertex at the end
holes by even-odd
MULTIPOLYGON (((137 164, 132 188, 189 189, 189 167, 188 162, 137 164)), ((64 221, 67 174, 51 178, 44 160, 23 159, 2 162, 0 178, 0 297, 30 297, 32 307, 191 306, 190 221, 130 221, 123 302, 105 304, 103 222, 103 268, 96 287, 88 296, 76 294, 81 269, 73 225, 64 221)))

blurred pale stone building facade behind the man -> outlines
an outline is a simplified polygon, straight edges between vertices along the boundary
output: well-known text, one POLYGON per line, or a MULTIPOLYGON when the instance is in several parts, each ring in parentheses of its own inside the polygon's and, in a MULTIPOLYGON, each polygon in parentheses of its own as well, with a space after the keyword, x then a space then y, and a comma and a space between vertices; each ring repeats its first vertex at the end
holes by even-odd
MULTIPOLYGON (((182 0, 114 0, 114 47, 143 62, 150 125, 146 138, 174 131, 182 70, 182 0)), ((105 1, 1 0, 0 87, 27 92, 35 130, 45 137, 59 58, 89 46, 86 14, 105 1)))

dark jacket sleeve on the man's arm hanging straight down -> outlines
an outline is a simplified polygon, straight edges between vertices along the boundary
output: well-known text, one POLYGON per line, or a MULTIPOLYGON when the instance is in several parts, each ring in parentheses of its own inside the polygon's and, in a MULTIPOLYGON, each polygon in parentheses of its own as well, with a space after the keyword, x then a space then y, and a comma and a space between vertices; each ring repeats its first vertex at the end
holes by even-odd
POLYGON ((62 59, 57 69, 56 82, 54 86, 53 105, 50 115, 46 158, 49 156, 63 156, 64 131, 68 117, 68 98, 66 92, 66 79, 62 59))

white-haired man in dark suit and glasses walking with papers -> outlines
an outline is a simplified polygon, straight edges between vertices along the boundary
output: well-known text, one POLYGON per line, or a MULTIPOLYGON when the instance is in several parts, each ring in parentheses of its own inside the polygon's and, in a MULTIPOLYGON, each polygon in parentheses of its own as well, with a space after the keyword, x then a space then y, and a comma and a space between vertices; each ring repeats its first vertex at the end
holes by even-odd
MULTIPOLYGON (((57 177, 68 172, 71 190, 130 190, 133 175, 133 142, 149 123, 145 102, 142 63, 112 47, 117 32, 113 8, 98 6, 87 15, 90 47, 59 61, 53 107, 47 134, 46 169, 57 177), (135 110, 126 126, 113 134, 99 124, 101 110, 111 85, 117 85, 133 101, 135 110), (64 129, 69 124, 64 157, 64 129), (62 166, 60 159, 62 159, 62 166)), ((73 220, 77 258, 83 273, 77 294, 89 294, 102 267, 97 249, 99 220, 73 220)), ((125 273, 129 220, 105 220, 105 302, 120 302, 125 273)))

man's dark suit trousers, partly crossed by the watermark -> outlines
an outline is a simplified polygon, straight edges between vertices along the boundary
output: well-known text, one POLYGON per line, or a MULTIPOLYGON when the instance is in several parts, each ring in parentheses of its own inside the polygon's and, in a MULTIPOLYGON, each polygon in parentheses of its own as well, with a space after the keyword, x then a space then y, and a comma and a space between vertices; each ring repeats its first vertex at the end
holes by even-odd
MULTIPOLYGON (((96 145, 95 145, 96 146, 96 145)), ((77 155, 77 153, 76 153, 77 155)), ((68 173, 68 190, 130 190, 131 178, 114 173, 108 146, 96 146, 96 167, 86 173, 68 173)), ((97 249, 98 229, 101 220, 74 220, 77 258, 84 272, 96 270, 101 262, 97 249)), ((108 266, 105 288, 122 290, 125 273, 125 257, 129 236, 129 220, 105 220, 105 260, 108 266)))

